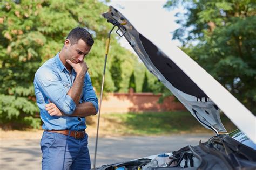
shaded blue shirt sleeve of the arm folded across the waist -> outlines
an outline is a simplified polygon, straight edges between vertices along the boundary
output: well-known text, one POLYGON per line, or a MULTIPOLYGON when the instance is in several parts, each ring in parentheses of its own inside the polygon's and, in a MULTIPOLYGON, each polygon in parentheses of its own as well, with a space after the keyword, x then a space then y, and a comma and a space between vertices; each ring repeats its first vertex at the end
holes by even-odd
POLYGON ((99 110, 98 98, 95 94, 95 91, 93 90, 92 83, 91 83, 91 78, 90 78, 90 75, 89 75, 88 72, 85 75, 84 86, 85 86, 85 88, 84 88, 84 93, 83 93, 83 96, 82 96, 82 100, 85 101, 85 102, 91 102, 94 105, 96 113, 97 113, 98 110, 99 110))

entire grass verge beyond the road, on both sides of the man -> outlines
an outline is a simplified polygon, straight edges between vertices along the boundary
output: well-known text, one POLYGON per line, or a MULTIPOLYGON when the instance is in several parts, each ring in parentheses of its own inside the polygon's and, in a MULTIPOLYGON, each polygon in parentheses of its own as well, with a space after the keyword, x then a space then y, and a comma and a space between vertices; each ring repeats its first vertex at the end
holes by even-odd
MULTIPOLYGON (((228 132, 233 131, 235 126, 229 119, 221 114, 228 132)), ((98 116, 86 118, 89 136, 96 136, 98 116)), ((23 129, 3 130, 0 128, 0 139, 40 139, 42 130, 23 129)), ((202 126, 189 112, 156 112, 156 113, 128 113, 128 114, 102 114, 100 116, 100 136, 120 135, 170 135, 188 133, 208 133, 213 135, 211 130, 202 126)))

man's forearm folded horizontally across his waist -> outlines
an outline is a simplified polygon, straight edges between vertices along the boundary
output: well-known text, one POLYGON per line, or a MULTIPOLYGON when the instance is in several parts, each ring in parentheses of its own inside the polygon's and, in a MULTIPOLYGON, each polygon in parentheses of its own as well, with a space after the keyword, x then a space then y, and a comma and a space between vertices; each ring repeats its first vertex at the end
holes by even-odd
POLYGON ((94 105, 91 102, 80 103, 77 105, 76 110, 72 115, 63 114, 63 116, 76 116, 76 117, 86 117, 91 115, 96 115, 94 105))

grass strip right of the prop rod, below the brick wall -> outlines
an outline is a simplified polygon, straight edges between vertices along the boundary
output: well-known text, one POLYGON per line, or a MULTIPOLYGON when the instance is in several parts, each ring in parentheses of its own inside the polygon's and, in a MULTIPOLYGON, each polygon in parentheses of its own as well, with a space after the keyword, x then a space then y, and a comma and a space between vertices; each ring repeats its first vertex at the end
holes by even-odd
MULTIPOLYGON (((228 132, 235 129, 229 119, 221 114, 228 132)), ((213 133, 204 128, 190 112, 157 112, 157 113, 128 113, 128 114, 102 114, 101 124, 103 131, 116 134, 134 135, 160 135, 160 134, 187 134, 187 133, 213 133)))

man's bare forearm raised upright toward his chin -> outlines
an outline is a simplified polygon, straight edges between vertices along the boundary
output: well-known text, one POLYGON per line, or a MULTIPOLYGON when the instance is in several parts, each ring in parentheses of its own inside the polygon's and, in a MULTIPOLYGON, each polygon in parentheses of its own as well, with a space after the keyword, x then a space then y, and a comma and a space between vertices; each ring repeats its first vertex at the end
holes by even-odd
POLYGON ((83 74, 77 74, 73 86, 69 89, 67 95, 69 95, 73 101, 78 105, 79 100, 81 98, 83 84, 84 84, 84 76, 83 74))

